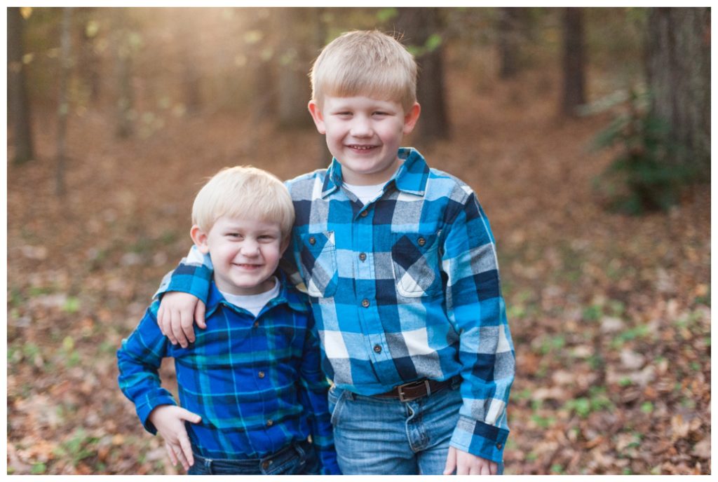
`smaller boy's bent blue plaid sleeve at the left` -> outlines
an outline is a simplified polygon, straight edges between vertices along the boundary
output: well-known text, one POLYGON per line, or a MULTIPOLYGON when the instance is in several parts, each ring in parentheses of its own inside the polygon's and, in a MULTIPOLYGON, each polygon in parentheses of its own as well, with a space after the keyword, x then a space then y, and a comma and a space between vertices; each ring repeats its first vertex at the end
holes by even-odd
POLYGON ((159 405, 177 405, 172 394, 162 388, 159 367, 167 356, 167 339, 157 326, 155 301, 147 308, 144 318, 117 351, 118 384, 123 394, 135 404, 137 416, 145 429, 157 433, 149 422, 149 414, 159 405))

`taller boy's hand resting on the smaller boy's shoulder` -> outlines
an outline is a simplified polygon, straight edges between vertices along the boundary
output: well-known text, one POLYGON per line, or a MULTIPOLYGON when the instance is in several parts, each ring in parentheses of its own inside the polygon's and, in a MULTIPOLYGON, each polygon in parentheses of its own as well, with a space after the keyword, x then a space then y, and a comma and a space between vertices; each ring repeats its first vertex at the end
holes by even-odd
POLYGON ((205 323, 205 303, 197 296, 181 291, 170 291, 162 296, 157 311, 157 325, 170 343, 180 343, 182 348, 195 341, 195 330, 192 325, 197 321, 201 329, 207 328, 205 323))

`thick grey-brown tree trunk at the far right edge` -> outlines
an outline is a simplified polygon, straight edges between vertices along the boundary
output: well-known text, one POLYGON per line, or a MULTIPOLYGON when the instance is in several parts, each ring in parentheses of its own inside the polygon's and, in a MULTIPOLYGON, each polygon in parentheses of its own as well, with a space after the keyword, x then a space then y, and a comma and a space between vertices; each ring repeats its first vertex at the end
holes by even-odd
POLYGON ((710 9, 653 8, 648 16, 651 112, 668 124, 676 163, 710 173, 710 9))

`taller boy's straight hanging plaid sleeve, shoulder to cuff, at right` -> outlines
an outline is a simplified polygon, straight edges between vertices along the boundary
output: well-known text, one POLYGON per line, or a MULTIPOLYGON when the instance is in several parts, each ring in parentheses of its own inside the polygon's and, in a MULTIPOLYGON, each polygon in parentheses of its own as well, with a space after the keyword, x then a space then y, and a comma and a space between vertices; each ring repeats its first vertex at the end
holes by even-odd
POLYGON ((451 445, 500 463, 515 354, 501 296, 495 242, 475 194, 457 204, 446 234, 447 314, 460 334, 463 405, 451 445))

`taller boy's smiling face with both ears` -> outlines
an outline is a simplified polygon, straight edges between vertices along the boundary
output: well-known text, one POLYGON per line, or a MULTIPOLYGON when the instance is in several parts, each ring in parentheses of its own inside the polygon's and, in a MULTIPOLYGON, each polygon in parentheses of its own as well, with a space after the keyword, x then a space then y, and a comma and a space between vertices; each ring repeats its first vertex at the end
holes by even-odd
POLYGON ((317 131, 327 136, 327 147, 342 165, 342 176, 349 184, 381 184, 391 179, 399 166, 401 139, 414 130, 419 104, 408 112, 392 100, 325 96, 320 108, 312 100, 317 131))

